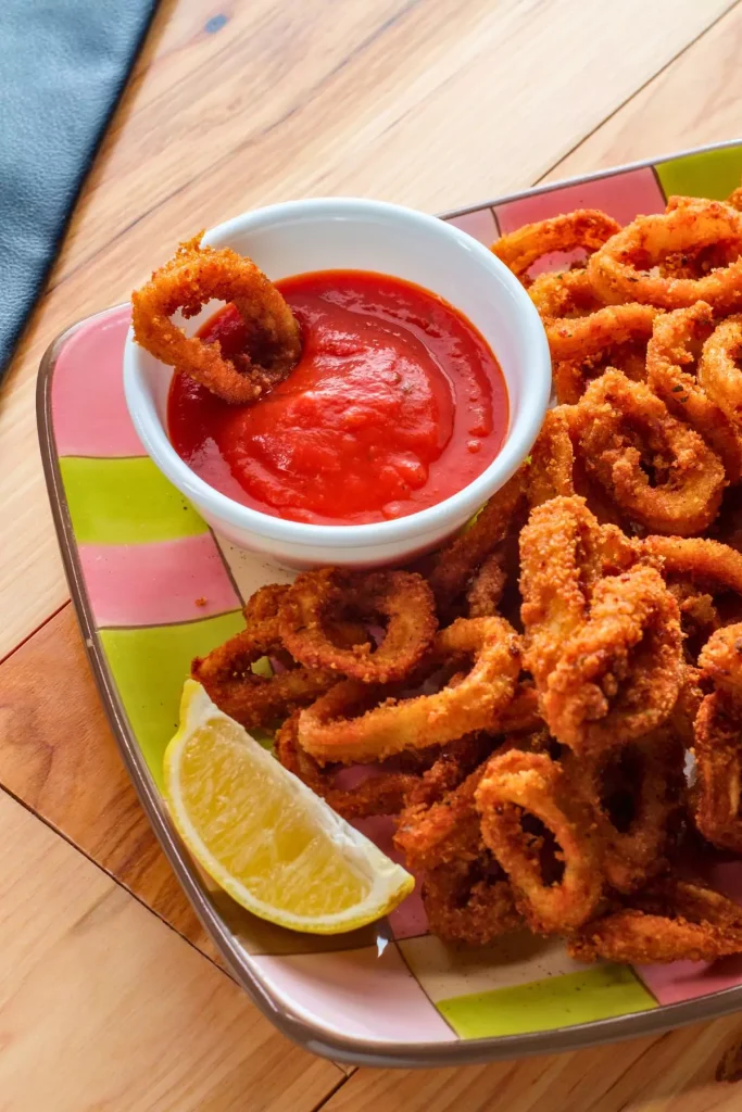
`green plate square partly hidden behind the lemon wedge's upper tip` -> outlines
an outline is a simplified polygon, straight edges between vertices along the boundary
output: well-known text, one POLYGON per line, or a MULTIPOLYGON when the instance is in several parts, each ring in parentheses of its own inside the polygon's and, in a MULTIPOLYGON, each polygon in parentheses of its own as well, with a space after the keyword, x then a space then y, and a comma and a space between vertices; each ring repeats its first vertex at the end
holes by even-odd
POLYGON ((100 631, 123 708, 158 787, 162 787, 162 755, 178 728, 190 662, 244 628, 241 610, 234 610, 185 625, 100 631))

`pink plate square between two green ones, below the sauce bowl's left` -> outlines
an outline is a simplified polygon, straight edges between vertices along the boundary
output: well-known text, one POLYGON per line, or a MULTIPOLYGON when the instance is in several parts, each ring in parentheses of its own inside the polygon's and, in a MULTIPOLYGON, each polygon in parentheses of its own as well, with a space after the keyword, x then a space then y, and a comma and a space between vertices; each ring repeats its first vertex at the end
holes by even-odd
POLYGON ((192 622, 241 605, 210 533, 79 553, 99 626, 192 622))

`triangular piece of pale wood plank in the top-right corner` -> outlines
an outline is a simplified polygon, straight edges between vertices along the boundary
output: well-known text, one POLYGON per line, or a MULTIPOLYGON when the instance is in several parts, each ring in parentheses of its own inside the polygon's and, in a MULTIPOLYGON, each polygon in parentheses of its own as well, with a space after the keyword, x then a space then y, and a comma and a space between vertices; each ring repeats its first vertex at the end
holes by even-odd
POLYGON ((558 161, 544 181, 742 136, 742 6, 558 161))

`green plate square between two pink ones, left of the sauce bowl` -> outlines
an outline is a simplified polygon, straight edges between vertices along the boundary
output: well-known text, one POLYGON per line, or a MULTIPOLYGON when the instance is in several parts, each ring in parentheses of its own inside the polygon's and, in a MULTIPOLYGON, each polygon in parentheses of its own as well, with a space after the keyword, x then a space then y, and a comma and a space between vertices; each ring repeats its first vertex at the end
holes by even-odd
POLYGON ((78 544, 126 545, 206 533, 198 516, 151 459, 59 460, 78 544))

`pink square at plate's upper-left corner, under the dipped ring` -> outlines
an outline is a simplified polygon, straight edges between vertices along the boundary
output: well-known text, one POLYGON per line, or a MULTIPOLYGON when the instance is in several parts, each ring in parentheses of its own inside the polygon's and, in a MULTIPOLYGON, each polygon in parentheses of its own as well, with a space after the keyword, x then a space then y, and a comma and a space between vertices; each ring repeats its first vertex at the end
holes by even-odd
POLYGON ((55 366, 51 411, 60 456, 144 456, 123 398, 121 360, 129 307, 88 320, 55 366))

